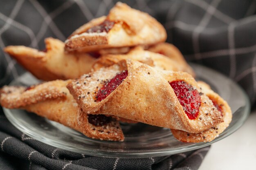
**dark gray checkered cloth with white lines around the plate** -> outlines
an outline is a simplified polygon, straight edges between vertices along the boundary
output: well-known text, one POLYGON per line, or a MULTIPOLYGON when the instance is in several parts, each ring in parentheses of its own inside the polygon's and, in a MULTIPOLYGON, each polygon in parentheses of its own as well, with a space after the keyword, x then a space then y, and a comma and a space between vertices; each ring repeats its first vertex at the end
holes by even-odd
MULTIPOLYGON (((2 0, 0 47, 25 45, 44 49, 44 38, 60 40, 85 22, 106 15, 114 0, 2 0)), ((127 0, 162 22, 168 42, 187 60, 231 77, 256 99, 255 0, 127 0)), ((24 73, 0 50, 0 86, 24 73)), ((228 87, 223 87, 228 88, 228 87)), ((68 152, 26 136, 13 127, 0 108, 1 170, 145 169, 196 170, 209 147, 167 157, 119 159, 68 152)))

